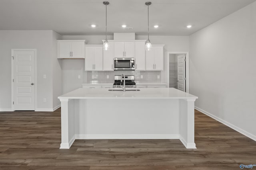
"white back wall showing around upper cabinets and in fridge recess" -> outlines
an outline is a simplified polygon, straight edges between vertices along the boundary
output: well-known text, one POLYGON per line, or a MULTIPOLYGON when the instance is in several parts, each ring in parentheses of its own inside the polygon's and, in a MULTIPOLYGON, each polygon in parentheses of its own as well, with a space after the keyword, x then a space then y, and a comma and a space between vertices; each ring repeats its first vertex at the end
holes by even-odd
MULTIPOLYGON (((114 36, 108 36, 108 39, 113 39, 114 36)), ((147 36, 136 36, 135 39, 147 39, 147 36)), ((87 44, 102 44, 102 39, 105 39, 104 35, 64 35, 62 39, 85 39, 87 44)), ((152 44, 164 44, 164 71, 161 72, 161 80, 167 83, 168 75, 168 52, 176 51, 188 51, 189 50, 189 37, 188 36, 150 36, 152 44)), ((84 60, 62 60, 62 81, 63 81, 63 93, 75 90, 81 87, 82 80, 77 76, 83 75, 86 80, 86 74, 84 72, 84 60)))

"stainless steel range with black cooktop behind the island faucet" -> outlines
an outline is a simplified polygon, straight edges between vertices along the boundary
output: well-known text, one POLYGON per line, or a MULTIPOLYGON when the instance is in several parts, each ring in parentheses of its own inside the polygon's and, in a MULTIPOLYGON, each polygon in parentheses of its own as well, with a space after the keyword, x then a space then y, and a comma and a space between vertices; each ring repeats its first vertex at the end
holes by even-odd
MULTIPOLYGON (((121 85, 124 85, 124 77, 123 76, 114 76, 114 88, 120 88, 121 85)), ((125 86, 127 88, 136 88, 136 83, 134 82, 134 76, 125 76, 125 86)))

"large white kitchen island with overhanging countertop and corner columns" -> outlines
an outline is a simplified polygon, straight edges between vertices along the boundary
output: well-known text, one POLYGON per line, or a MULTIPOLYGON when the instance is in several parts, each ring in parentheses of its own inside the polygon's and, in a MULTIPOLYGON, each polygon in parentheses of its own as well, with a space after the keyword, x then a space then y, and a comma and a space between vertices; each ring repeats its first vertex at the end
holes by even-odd
POLYGON ((60 149, 69 149, 75 139, 180 139, 186 148, 196 148, 198 97, 175 88, 126 92, 79 88, 58 98, 60 149))

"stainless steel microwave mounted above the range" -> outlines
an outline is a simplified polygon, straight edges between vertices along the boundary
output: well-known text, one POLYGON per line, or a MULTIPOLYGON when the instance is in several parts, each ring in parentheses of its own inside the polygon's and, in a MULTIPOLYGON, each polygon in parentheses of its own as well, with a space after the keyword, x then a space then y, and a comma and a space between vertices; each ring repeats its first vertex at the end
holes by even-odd
POLYGON ((114 58, 114 70, 135 70, 135 59, 114 58))

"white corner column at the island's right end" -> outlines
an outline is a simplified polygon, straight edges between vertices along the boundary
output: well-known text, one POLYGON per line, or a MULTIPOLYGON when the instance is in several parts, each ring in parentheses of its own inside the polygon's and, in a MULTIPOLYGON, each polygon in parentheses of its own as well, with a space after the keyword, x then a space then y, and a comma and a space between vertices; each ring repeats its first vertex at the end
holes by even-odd
POLYGON ((187 149, 196 149, 194 140, 194 102, 196 99, 180 99, 180 141, 187 149))

